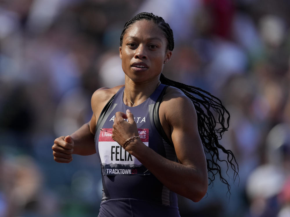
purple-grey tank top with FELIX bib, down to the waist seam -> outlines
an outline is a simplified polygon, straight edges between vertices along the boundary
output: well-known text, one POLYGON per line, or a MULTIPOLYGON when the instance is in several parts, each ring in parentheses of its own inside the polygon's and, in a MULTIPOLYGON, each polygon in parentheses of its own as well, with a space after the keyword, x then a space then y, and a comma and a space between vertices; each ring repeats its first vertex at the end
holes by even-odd
POLYGON ((130 109, 141 141, 161 156, 177 161, 174 147, 164 136, 158 117, 159 104, 166 87, 160 84, 146 101, 135 107, 124 104, 124 87, 122 87, 104 107, 98 119, 95 134, 97 157, 102 167, 103 202, 135 199, 160 205, 178 206, 176 193, 164 186, 138 159, 113 141, 111 136, 115 113, 118 111, 126 113, 126 110, 130 109), (155 123, 156 119, 159 124, 155 123))

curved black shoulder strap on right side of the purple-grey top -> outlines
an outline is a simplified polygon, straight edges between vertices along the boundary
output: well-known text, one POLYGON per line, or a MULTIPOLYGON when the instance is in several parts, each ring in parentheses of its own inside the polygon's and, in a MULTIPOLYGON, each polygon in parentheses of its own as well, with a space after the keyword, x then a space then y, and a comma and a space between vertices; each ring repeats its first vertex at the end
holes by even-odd
POLYGON ((158 133, 162 136, 162 138, 170 145, 170 146, 174 146, 173 143, 168 139, 166 133, 164 132, 162 126, 161 126, 161 122, 160 122, 160 118, 159 118, 159 107, 160 107, 160 103, 162 102, 162 98, 163 95, 167 89, 168 85, 166 85, 162 92, 160 93, 159 97, 157 98, 157 101, 155 103, 154 109, 153 109, 153 120, 154 120, 154 124, 155 127, 158 131, 158 133))

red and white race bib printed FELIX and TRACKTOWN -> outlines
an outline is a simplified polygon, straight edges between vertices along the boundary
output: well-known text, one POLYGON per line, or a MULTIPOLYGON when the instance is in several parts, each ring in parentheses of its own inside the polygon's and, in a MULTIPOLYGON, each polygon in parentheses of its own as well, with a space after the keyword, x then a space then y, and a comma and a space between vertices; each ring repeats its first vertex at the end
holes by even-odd
MULTIPOLYGON (((112 139, 112 128, 101 129, 99 154, 104 175, 148 175, 150 172, 129 152, 112 139)), ((148 147, 149 129, 138 129, 141 141, 148 147)))

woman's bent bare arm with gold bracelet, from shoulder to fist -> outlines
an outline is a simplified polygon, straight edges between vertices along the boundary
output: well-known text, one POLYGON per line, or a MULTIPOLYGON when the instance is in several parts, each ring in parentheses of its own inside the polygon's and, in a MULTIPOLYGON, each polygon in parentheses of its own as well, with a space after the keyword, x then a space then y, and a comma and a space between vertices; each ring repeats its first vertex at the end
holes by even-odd
MULTIPOLYGON (((168 103, 171 106, 167 106, 165 116, 180 163, 162 157, 139 139, 132 140, 126 150, 170 190, 197 202, 206 194, 208 177, 206 158, 197 130, 195 109, 185 96, 168 103)), ((130 112, 117 113, 114 125, 112 137, 121 145, 126 139, 138 135, 133 114, 130 112), (129 122, 124 121, 126 117, 129 122)))

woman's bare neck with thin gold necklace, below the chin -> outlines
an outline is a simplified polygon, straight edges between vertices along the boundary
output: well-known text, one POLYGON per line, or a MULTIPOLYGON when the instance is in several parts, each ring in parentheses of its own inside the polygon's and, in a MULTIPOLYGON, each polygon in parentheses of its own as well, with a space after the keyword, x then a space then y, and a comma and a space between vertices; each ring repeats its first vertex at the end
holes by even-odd
POLYGON ((159 79, 138 84, 129 78, 125 78, 125 94, 123 96, 124 103, 128 106, 137 106, 141 104, 147 98, 149 98, 149 96, 155 91, 159 84, 159 79))

